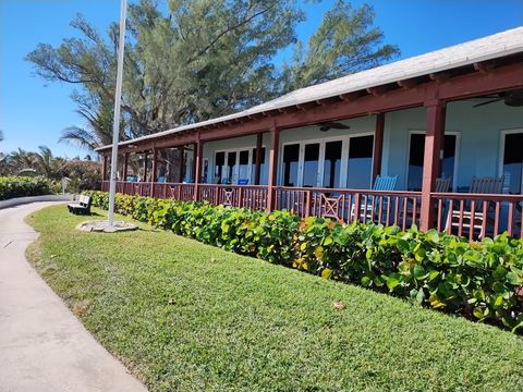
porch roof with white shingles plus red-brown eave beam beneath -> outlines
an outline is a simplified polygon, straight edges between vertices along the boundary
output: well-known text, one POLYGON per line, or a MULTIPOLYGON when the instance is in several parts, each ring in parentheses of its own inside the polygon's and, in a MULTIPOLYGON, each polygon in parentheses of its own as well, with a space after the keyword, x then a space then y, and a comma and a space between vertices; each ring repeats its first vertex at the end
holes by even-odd
MULTIPOLYGON (((523 87, 523 27, 291 91, 239 113, 120 144, 142 151, 523 87), (197 132, 195 132, 197 131, 197 132)), ((111 145, 97 151, 108 152, 111 145)))

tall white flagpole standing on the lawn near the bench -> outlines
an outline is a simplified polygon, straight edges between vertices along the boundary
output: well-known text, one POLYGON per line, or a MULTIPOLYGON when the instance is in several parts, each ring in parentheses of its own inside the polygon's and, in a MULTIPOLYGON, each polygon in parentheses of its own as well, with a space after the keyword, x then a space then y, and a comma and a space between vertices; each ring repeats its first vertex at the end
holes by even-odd
POLYGON ((123 49, 125 38, 125 0, 120 3, 120 40, 118 42, 117 91, 114 94, 114 118, 112 121, 111 177, 109 183, 109 225, 114 223, 114 195, 117 193, 118 140, 120 135, 120 102, 122 99, 123 49))

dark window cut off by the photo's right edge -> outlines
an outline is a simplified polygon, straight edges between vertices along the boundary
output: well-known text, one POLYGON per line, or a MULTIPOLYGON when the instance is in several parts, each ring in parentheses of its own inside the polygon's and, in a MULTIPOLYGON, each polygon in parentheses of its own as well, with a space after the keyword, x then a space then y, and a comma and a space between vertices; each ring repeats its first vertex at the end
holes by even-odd
POLYGON ((502 167, 504 175, 503 193, 522 194, 523 182, 523 132, 502 133, 502 167))

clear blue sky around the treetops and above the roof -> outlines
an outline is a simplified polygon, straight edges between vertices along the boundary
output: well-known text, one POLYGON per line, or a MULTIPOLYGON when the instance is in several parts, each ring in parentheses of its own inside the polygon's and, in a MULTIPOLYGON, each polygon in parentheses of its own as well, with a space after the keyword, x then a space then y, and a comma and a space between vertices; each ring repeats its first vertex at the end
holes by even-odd
MULTIPOLYGON (((127 0, 129 1, 129 0, 127 0)), ((335 0, 303 8, 307 22, 299 26, 306 40, 335 0)), ((357 7, 364 1, 352 1, 357 7)), ((367 0, 375 23, 401 58, 425 53, 523 25, 523 0, 367 0)), ((88 151, 58 143, 61 131, 82 126, 69 98, 72 87, 34 75, 24 57, 39 42, 59 46, 74 30, 69 23, 82 13, 99 32, 119 17, 119 0, 0 0, 0 130, 1 151, 49 146, 56 155, 85 156, 88 151)))

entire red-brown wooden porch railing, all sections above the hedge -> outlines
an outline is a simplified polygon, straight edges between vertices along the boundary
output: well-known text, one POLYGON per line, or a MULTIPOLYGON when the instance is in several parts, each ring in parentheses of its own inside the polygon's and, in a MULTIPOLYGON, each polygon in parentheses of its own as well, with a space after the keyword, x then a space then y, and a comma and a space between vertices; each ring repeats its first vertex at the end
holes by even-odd
MULTIPOLYGON (((177 200, 194 200, 194 184, 118 182, 117 192, 177 200)), ((102 183, 109 191, 109 182, 102 183)), ((396 224, 403 230, 419 225, 421 192, 331 189, 285 187, 273 188, 276 209, 287 209, 302 218, 321 217, 351 223, 377 222, 396 224)), ((268 187, 264 185, 199 184, 200 201, 212 205, 265 210, 268 208, 268 187)), ((523 195, 484 195, 431 193, 435 220, 430 226, 464 235, 469 240, 495 236, 507 231, 523 236, 523 195)))

